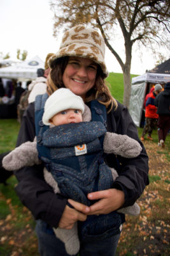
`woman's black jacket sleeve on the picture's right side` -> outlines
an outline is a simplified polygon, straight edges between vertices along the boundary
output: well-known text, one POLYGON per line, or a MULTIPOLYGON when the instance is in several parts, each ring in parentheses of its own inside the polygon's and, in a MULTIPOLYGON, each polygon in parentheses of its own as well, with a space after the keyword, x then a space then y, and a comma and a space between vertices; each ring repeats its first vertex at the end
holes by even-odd
POLYGON ((117 132, 118 134, 126 134, 127 136, 137 140, 141 147, 141 153, 135 158, 124 158, 121 156, 108 155, 108 165, 116 168, 118 177, 113 183, 113 188, 124 191, 125 204, 123 207, 130 206, 136 202, 141 196, 148 181, 148 156, 145 147, 138 138, 138 130, 127 108, 118 105, 118 114, 114 111, 108 116, 108 131, 117 132), (115 164, 116 163, 116 164, 115 164))

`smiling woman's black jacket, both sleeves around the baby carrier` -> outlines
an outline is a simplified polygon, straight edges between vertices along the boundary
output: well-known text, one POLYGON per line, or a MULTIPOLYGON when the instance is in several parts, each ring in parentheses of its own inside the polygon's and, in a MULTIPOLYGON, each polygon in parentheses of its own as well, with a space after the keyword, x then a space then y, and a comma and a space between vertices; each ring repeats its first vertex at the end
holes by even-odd
MULTIPOLYGON (((107 116, 107 131, 127 134, 139 141, 138 131, 129 115, 129 111, 119 103, 117 111, 112 110, 107 116)), ((23 116, 17 146, 25 141, 33 141, 34 136, 34 103, 31 103, 23 116)), ((141 141, 139 143, 143 147, 141 141)), ((143 147, 141 154, 133 159, 125 159, 110 154, 106 163, 115 168, 120 175, 113 183, 113 188, 124 191, 124 207, 134 204, 149 183, 148 156, 145 148, 143 147)), ((55 195, 53 189, 46 184, 43 178, 43 164, 22 168, 15 175, 18 179, 17 195, 32 212, 34 218, 46 221, 52 227, 57 227, 67 199, 62 195, 55 195)))

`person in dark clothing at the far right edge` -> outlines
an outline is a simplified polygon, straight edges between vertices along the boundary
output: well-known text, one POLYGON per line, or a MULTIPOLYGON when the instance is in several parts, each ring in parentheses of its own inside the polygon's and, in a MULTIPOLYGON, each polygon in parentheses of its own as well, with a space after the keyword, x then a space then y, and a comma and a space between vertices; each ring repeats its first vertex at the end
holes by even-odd
POLYGON ((164 91, 155 98, 155 106, 159 115, 157 122, 158 145, 164 148, 166 136, 170 129, 170 82, 165 84, 164 91))

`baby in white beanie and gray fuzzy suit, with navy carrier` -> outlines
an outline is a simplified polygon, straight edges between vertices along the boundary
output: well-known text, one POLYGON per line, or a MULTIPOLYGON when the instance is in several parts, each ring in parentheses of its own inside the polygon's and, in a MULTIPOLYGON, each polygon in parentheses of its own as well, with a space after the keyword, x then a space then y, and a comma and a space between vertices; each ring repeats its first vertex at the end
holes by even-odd
MULTIPOLYGON (((132 158, 141 152, 138 141, 127 135, 106 132, 102 118, 101 122, 94 121, 90 108, 83 103, 81 97, 66 88, 60 88, 48 97, 42 120, 44 125, 48 125, 45 132, 40 134, 40 128, 36 133, 37 141, 36 138, 33 142, 27 141, 10 152, 4 157, 3 166, 6 170, 18 170, 43 161, 45 180, 54 192, 62 193, 82 204, 89 205, 87 193, 94 189, 93 180, 99 179, 98 190, 104 190, 111 188, 118 176, 115 169, 104 163, 103 153, 132 158), (39 141, 39 138, 42 139, 39 141), (104 139, 103 148, 99 138, 104 139), (44 151, 42 145, 45 147, 44 151), (99 157, 96 157, 98 152, 99 157), (91 157, 88 169, 81 166, 89 161, 85 156, 91 157), (101 178, 103 173, 104 181, 101 178)), ((118 212, 137 215, 139 206, 135 203, 118 212)), ((68 254, 78 252, 80 242, 76 224, 71 230, 53 228, 53 231, 64 242, 68 254)))

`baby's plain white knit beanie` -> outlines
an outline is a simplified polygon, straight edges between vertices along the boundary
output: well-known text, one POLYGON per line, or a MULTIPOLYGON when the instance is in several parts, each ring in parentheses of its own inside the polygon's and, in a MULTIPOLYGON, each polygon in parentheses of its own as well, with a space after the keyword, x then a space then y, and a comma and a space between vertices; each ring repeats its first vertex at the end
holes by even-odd
POLYGON ((43 123, 50 125, 50 118, 66 109, 80 109, 83 113, 85 105, 80 96, 75 95, 67 88, 60 88, 53 92, 45 102, 43 123))

